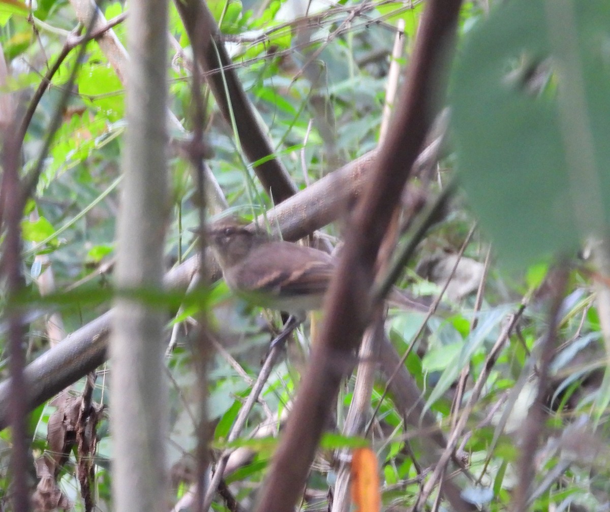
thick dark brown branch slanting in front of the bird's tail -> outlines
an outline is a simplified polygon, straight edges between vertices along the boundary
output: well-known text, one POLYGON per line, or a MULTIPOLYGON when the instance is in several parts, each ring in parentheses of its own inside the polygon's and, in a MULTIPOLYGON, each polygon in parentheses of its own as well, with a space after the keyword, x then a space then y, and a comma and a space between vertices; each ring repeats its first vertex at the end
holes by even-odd
POLYGON ((438 108, 443 57, 453 39, 460 5, 459 0, 431 0, 423 15, 398 118, 382 144, 375 172, 347 232, 345 252, 326 299, 326 321, 262 491, 259 511, 292 510, 303 489, 321 430, 349 366, 346 363, 354 357, 370 316, 368 296, 379 246, 438 108))

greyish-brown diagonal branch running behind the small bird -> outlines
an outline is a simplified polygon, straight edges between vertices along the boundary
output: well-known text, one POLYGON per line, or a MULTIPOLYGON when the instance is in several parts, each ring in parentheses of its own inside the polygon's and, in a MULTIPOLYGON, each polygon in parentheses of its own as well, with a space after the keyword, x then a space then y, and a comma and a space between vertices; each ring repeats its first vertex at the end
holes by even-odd
MULTIPOLYGON (((431 144, 436 144, 436 141, 431 144)), ((422 155, 424 157, 419 162, 422 166, 428 165, 430 158, 436 158, 435 152, 426 149, 422 155)), ((344 211, 345 204, 353 202, 362 193, 364 177, 375 165, 376 157, 377 152, 370 151, 272 208, 267 212, 269 225, 278 227, 284 240, 295 241, 336 220, 344 211)), ((164 285, 169 289, 186 290, 198 272, 198 263, 196 257, 184 261, 167 272, 164 285)), ((206 266, 210 280, 220 278, 220 269, 213 264, 211 256, 206 260, 206 266)), ((29 390, 29 410, 106 361, 112 315, 112 311, 108 311, 74 331, 26 367, 24 378, 29 390)), ((0 383, 0 430, 7 427, 9 383, 9 380, 0 383)))

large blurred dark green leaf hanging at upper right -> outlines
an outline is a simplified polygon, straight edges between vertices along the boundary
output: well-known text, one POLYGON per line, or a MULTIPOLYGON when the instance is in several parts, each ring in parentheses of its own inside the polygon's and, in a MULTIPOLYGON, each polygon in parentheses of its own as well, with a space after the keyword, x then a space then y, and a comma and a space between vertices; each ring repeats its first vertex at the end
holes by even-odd
POLYGON ((451 80, 462 184, 511 266, 574 251, 610 218, 610 9, 567 5, 500 2, 468 34, 451 80))

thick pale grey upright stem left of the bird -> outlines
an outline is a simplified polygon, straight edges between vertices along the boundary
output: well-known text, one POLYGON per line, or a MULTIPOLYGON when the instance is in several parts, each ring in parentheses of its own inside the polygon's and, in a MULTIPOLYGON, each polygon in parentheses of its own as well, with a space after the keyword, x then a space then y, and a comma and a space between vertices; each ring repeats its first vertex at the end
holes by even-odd
MULTIPOLYGON (((129 6, 126 149, 118 219, 117 285, 159 293, 170 210, 167 179, 167 0, 129 6)), ((145 300, 145 299, 144 299, 145 300)), ((110 339, 114 510, 167 510, 165 314, 144 300, 116 301, 110 339)))

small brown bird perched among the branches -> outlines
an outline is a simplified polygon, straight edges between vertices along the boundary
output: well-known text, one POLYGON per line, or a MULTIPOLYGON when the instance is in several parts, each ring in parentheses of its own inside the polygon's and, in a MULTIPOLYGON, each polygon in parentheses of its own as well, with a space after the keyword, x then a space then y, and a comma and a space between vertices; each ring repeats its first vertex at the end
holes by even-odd
MULTIPOLYGON (((305 312, 322 307, 336 268, 326 252, 254 232, 235 219, 225 219, 208 230, 209 243, 229 288, 252 304, 287 311, 299 321, 305 312)), ((427 313, 428 304, 397 288, 389 301, 427 313)))

